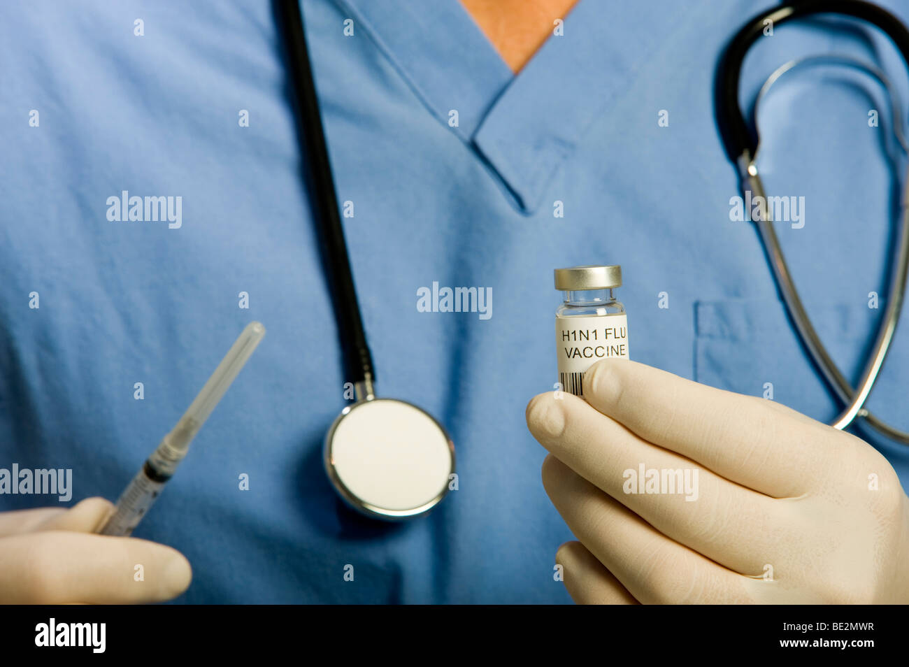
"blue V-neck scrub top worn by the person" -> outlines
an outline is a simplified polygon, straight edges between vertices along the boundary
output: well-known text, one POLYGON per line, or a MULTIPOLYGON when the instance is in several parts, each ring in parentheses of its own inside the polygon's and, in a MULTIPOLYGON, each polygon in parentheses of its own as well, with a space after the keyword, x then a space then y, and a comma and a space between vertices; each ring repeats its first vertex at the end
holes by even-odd
MULTIPOLYGON (((115 499, 259 320, 265 341, 136 533, 192 562, 179 601, 567 602, 553 565, 572 535, 524 423, 555 380, 554 268, 622 265, 635 360, 838 412, 754 225, 730 220, 714 66, 769 5, 580 0, 513 76, 457 0, 304 0, 377 389, 457 450, 458 490, 399 524, 346 509, 323 470, 346 380, 272 8, 0 6, 0 467, 72 468, 71 503, 115 499), (180 226, 108 219, 123 191, 181 197, 180 226), (492 316, 420 312, 434 283, 492 288, 492 316)), ((906 99, 884 37, 822 19, 754 47, 744 103, 784 61, 841 51, 906 99)), ((793 76, 764 105, 761 167, 771 194, 805 198, 804 226, 777 231, 855 382, 884 312, 890 117, 862 75, 793 76)), ((906 373, 909 324, 870 403, 909 429, 906 373)), ((909 448, 864 436, 905 484, 909 448)))

